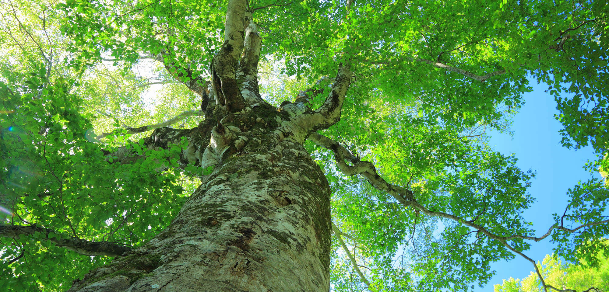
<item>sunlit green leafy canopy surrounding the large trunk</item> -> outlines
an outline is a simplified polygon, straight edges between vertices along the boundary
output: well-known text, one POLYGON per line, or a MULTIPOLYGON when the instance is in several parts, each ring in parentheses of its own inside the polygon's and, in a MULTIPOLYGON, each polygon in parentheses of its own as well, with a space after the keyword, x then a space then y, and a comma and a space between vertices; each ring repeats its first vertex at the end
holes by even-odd
MULTIPOLYGON (((166 228, 213 171, 180 158, 185 138, 149 147, 150 131, 206 117, 229 2, 0 1, 0 289, 66 290, 166 228)), ((323 108, 352 76, 305 137, 332 189, 334 291, 471 290, 516 256, 544 290, 580 289, 546 285, 526 252, 551 240, 594 266, 609 234, 595 176, 609 169, 606 1, 252 0, 247 13, 259 38, 245 41, 261 45, 242 60, 259 53, 265 102, 323 108), (529 80, 554 96, 562 145, 597 154, 542 231, 522 216, 535 173, 487 144, 529 80)))

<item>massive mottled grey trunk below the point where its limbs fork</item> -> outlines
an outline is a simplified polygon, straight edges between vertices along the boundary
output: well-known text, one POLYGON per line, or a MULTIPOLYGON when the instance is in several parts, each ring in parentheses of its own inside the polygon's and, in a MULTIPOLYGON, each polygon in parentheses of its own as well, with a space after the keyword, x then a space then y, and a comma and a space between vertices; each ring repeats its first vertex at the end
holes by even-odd
POLYGON ((328 181, 273 130, 278 111, 252 112, 213 127, 205 152, 219 164, 170 226, 69 291, 328 291, 328 181))

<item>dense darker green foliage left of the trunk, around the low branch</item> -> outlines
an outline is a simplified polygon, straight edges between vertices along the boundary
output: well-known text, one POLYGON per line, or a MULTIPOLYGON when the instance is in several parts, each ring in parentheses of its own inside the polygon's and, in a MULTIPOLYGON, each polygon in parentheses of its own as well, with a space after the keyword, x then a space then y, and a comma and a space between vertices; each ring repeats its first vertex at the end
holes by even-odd
MULTIPOLYGON (((12 81, 10 75, 4 76, 12 81)), ((121 164, 116 161, 117 156, 107 158, 100 145, 90 141, 91 123, 87 116, 79 114, 80 99, 69 93, 69 83, 49 85, 36 97, 36 80, 29 81, 31 86, 23 94, 16 92, 24 88, 0 83, 0 92, 7 97, 0 105, 6 113, 0 125, 2 205, 13 210, 10 220, 128 246, 139 245, 166 226, 177 211, 172 204, 183 202, 182 189, 175 184, 174 176, 155 169, 164 167, 162 161, 171 163, 175 151, 153 151, 135 143, 127 148, 146 159, 121 164)), ((125 138, 112 137, 122 143, 125 138)), ((118 148, 104 150, 114 153, 118 148)), ((37 285, 55 291, 60 284, 65 287, 75 276, 83 276, 88 269, 108 260, 66 254, 35 237, 0 240, 3 257, 11 259, 10 255, 15 258, 23 252, 3 271, 14 275, 5 285, 20 283, 23 291, 37 285), (66 255, 58 257, 59 254, 66 255), (47 265, 68 268, 49 277, 47 265)))

